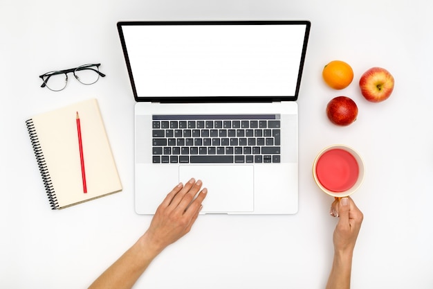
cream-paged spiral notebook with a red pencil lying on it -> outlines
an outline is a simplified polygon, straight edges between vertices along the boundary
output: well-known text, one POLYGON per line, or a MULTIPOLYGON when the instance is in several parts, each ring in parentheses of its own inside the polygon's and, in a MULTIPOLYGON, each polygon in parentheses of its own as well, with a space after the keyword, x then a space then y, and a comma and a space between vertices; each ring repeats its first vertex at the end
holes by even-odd
POLYGON ((33 116, 26 125, 52 209, 122 190, 98 100, 33 116))

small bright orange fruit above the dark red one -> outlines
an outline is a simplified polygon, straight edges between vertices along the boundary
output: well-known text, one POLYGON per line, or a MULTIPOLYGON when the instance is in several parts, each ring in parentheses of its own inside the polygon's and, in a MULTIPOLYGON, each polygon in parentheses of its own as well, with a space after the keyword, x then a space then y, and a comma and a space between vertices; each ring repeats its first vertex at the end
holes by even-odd
POLYGON ((333 89, 343 89, 353 80, 353 69, 344 61, 333 60, 322 71, 323 80, 333 89))

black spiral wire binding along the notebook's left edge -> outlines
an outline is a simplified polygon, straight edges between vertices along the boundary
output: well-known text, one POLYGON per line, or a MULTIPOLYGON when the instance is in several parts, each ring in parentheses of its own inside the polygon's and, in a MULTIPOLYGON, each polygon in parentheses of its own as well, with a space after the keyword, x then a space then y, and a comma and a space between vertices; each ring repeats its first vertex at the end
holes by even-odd
POLYGON ((26 121, 26 125, 28 134, 30 135, 30 141, 33 146, 33 151, 35 152, 37 166, 39 167, 39 172, 42 175, 42 182, 44 182, 46 194, 48 195, 48 201, 50 202, 51 209, 57 209, 59 207, 59 203, 57 202, 53 183, 51 182, 50 173, 48 172, 48 168, 46 166, 46 161, 42 152, 41 145, 39 143, 39 139, 37 137, 33 119, 29 119, 28 121, 26 121))

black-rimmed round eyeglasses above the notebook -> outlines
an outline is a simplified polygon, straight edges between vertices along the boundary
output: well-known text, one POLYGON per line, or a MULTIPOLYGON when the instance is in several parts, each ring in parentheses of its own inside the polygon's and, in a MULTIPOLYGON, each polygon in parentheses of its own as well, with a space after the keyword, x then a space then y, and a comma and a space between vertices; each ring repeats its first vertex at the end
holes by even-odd
POLYGON ((83 85, 93 85, 97 82, 99 77, 105 77, 105 74, 99 71, 100 63, 98 64, 84 64, 77 68, 50 71, 39 76, 44 83, 41 87, 48 87, 52 91, 61 91, 68 83, 68 73, 73 72, 75 78, 83 85), (48 84, 49 80, 49 84, 48 84))

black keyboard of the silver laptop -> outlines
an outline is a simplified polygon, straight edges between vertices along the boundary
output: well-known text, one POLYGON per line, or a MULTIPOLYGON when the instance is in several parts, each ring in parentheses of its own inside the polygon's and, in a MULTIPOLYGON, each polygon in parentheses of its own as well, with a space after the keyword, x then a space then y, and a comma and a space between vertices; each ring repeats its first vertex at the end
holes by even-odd
POLYGON ((155 164, 279 163, 279 115, 154 115, 155 164))

